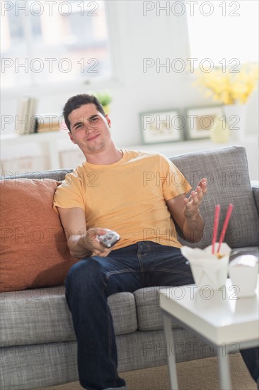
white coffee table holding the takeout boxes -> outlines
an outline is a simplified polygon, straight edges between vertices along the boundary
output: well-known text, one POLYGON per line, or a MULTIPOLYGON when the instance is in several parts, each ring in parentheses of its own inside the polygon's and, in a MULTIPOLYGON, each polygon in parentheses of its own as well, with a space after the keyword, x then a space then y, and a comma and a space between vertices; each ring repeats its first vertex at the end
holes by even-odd
POLYGON ((171 390, 178 389, 171 320, 190 330, 217 349, 221 389, 231 389, 229 358, 231 351, 259 345, 258 288, 249 298, 236 297, 236 286, 227 279, 220 290, 198 290, 195 284, 165 287, 160 291, 160 306, 166 342, 171 390))

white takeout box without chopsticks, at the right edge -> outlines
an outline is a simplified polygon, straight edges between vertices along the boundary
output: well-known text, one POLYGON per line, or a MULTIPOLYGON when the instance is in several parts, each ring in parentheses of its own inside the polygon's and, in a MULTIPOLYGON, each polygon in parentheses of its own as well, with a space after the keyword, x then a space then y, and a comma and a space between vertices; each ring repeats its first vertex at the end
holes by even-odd
POLYGON ((237 287, 236 296, 253 296, 258 282, 258 257, 241 255, 229 263, 229 277, 237 287))

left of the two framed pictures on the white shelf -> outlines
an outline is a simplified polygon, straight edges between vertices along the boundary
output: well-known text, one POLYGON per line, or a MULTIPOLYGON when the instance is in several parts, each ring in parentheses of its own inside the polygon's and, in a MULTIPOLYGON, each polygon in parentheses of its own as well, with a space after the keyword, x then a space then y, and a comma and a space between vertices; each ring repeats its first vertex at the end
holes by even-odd
POLYGON ((184 139, 185 120, 174 108, 139 113, 139 123, 144 144, 178 142, 184 139))

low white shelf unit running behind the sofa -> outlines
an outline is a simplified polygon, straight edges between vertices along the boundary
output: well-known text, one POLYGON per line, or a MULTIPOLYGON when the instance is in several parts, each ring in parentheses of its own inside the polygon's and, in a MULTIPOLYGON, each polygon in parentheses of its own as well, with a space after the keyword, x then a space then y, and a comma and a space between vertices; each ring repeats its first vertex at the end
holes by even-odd
MULTIPOLYGON (((242 142, 213 143, 193 140, 154 145, 117 145, 122 149, 161 152, 167 157, 201 150, 219 149, 231 145, 246 147, 252 180, 258 180, 258 137, 250 135, 242 142)), ((67 131, 53 131, 28 135, 1 136, 1 174, 4 172, 35 172, 45 169, 73 168, 84 161, 77 145, 71 143, 67 131)))

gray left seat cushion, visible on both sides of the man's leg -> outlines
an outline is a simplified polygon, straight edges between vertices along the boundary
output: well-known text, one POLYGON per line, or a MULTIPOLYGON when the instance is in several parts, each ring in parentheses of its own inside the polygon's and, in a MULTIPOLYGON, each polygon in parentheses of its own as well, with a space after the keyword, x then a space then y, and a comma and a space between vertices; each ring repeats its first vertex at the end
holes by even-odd
MULTIPOLYGON (((108 297, 115 335, 134 333, 137 315, 132 293, 108 297)), ((76 340, 64 286, 8 291, 0 299, 1 347, 76 340)))

